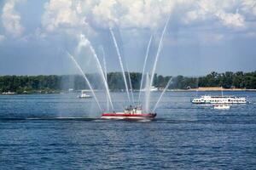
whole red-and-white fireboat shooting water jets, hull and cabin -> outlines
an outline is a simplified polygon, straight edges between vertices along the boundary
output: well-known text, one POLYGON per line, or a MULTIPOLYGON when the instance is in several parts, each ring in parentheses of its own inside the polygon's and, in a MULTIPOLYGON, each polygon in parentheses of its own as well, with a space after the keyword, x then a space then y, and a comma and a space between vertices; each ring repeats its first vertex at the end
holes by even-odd
POLYGON ((124 112, 102 113, 102 119, 152 120, 156 113, 143 113, 141 106, 126 107, 124 112))

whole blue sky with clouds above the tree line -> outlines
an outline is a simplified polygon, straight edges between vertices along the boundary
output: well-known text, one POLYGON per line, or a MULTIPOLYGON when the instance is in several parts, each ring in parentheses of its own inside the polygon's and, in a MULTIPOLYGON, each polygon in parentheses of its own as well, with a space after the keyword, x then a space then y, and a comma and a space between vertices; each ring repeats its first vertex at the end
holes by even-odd
POLYGON ((255 0, 0 0, 0 75, 256 70, 255 0), (167 20, 169 21, 167 22, 167 20), (167 24, 167 25, 166 25, 167 24), (160 38, 164 26, 163 41, 160 38))

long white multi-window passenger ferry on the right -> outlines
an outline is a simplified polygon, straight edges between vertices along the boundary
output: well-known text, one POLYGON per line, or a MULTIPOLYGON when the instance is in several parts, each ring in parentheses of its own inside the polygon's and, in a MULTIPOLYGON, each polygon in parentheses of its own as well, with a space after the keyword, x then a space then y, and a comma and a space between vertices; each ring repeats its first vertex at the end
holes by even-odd
POLYGON ((203 95, 192 100, 193 104, 246 104, 247 99, 236 96, 210 96, 203 95))

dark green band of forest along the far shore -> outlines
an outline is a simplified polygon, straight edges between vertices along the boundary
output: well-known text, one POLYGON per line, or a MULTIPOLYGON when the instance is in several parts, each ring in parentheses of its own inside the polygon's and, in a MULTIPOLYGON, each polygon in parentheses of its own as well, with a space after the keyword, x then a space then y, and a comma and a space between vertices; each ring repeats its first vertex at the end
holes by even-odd
MULTIPOLYGON (((128 73, 126 72, 128 80, 128 73)), ((93 74, 86 75, 92 86, 96 89, 102 88, 101 77, 93 74)), ((139 89, 142 73, 131 72, 131 85, 133 89, 139 89)), ((165 88, 171 77, 154 75, 154 86, 165 88)), ((112 91, 125 88, 121 72, 108 73, 108 86, 112 91)), ((169 89, 188 89, 198 87, 223 87, 223 88, 245 88, 256 89, 256 71, 253 72, 231 72, 217 73, 212 71, 204 77, 172 77, 169 89)), ((80 75, 49 75, 49 76, 1 76, 0 93, 14 92, 16 94, 49 94, 60 93, 73 88, 74 90, 88 88, 84 78, 80 75)))

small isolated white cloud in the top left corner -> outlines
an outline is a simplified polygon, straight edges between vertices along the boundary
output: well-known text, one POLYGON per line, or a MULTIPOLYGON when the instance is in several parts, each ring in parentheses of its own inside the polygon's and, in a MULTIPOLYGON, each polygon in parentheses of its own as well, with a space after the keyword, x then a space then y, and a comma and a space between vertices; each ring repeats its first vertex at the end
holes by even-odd
POLYGON ((20 2, 23 1, 9 0, 3 5, 3 27, 13 37, 19 37, 24 31, 24 27, 20 25, 20 14, 15 10, 15 5, 20 2))

